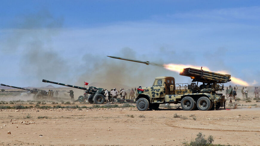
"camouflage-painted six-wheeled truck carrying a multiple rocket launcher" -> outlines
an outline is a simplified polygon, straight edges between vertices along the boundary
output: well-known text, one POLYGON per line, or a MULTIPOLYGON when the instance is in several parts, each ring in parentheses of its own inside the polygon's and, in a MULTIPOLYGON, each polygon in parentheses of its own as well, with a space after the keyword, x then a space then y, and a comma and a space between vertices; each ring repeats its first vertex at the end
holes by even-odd
POLYGON ((194 68, 185 68, 180 75, 191 77, 192 83, 175 84, 174 77, 161 76, 155 78, 152 86, 138 88, 135 99, 138 110, 156 110, 166 103, 180 103, 183 110, 225 108, 225 96, 217 91, 224 90, 223 83, 231 81, 230 75, 194 68), (198 82, 202 84, 198 86, 198 82))

